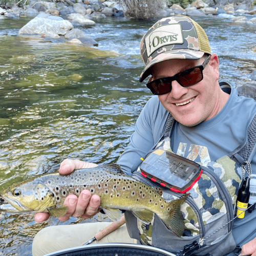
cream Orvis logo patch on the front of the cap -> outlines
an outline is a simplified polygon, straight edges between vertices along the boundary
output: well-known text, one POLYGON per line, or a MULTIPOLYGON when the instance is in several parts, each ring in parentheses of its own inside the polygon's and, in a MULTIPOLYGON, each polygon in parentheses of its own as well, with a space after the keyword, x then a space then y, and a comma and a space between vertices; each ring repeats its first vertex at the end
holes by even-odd
POLYGON ((184 39, 181 24, 163 25, 156 28, 145 37, 147 57, 160 47, 173 44, 183 44, 183 42, 184 39))

